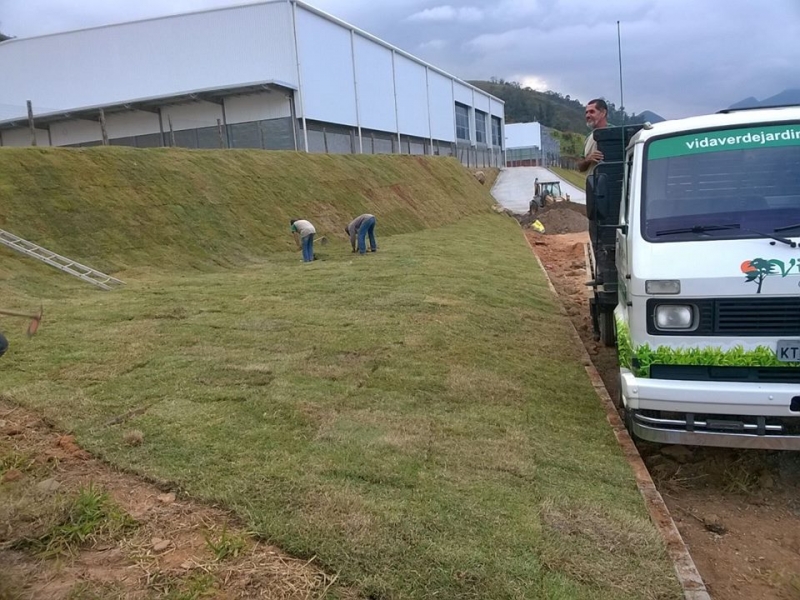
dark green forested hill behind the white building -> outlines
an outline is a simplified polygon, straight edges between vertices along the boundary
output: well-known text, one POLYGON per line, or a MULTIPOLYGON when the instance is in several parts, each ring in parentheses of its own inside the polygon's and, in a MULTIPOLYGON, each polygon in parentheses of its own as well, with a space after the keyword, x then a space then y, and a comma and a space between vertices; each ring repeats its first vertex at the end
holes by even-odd
MULTIPOLYGON (((475 87, 497 96, 506 103, 506 123, 528 123, 538 121, 542 125, 552 127, 564 132, 580 133, 586 135, 586 121, 584 118, 585 102, 569 96, 562 96, 558 92, 537 92, 531 88, 523 88, 516 81, 492 79, 491 81, 470 81, 475 87)), ((608 102, 608 120, 611 123, 636 123, 639 120, 635 115, 623 114, 613 102, 608 102)), ((663 120, 660 116, 649 111, 648 120, 663 120)))

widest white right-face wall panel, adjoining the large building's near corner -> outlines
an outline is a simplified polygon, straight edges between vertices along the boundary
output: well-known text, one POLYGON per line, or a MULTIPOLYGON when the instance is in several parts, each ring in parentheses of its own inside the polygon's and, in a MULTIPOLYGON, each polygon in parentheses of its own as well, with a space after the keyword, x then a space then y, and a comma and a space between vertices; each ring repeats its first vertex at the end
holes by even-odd
POLYGON ((296 16, 305 117, 356 125, 350 31, 300 6, 296 16))

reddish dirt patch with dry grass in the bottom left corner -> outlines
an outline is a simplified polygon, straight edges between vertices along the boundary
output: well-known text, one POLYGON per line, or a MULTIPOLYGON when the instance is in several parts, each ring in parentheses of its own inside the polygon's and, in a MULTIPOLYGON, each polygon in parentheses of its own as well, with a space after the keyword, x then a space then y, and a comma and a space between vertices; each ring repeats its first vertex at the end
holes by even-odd
MULTIPOLYGON (((0 399, 0 598, 323 598, 315 566, 254 539, 236 518, 115 471, 33 413, 0 399), (43 558, 30 542, 81 490, 102 490, 133 526, 43 558), (51 510, 52 509, 52 510, 51 510)), ((355 593, 337 587, 344 598, 355 593)))

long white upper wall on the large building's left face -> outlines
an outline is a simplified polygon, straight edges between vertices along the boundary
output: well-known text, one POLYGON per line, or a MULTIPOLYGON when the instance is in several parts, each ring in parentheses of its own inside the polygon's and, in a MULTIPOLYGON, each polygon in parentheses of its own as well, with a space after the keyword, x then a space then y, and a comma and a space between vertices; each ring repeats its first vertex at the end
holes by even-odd
POLYGON ((0 45, 0 120, 276 80, 297 85, 288 2, 0 45), (102 51, 100 51, 102 49, 102 51), (21 92, 24 90, 24 94, 21 92))

